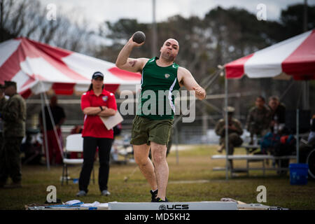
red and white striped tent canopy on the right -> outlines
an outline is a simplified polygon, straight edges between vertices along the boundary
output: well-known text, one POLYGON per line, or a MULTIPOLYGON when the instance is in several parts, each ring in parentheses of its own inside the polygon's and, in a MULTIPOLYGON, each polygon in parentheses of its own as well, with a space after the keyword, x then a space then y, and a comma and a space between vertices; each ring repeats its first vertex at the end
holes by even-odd
POLYGON ((315 29, 225 64, 226 78, 315 79, 315 29))

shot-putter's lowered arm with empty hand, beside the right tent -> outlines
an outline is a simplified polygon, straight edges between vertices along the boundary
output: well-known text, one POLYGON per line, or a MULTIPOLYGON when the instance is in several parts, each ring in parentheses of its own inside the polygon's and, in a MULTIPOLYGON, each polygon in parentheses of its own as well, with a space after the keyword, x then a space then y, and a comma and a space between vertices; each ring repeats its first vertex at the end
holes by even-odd
POLYGON ((179 84, 186 87, 187 90, 194 90, 196 97, 200 100, 206 98, 206 90, 201 87, 193 77, 193 75, 183 67, 179 67, 179 84))

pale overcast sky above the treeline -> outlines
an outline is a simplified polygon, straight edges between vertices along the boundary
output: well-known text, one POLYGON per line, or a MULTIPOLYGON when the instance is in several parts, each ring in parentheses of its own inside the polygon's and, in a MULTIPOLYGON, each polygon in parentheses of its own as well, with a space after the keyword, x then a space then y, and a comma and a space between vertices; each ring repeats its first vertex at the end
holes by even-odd
MULTIPOLYGON (((55 3, 58 10, 71 13, 73 20, 85 18, 91 25, 97 27, 105 20, 115 22, 120 18, 137 19, 138 22, 152 22, 153 0, 41 0, 43 5, 55 3)), ((197 15, 203 18, 206 13, 216 6, 230 8, 246 8, 257 14, 257 6, 263 3, 266 6, 267 20, 278 20, 281 10, 289 5, 303 3, 304 0, 155 0, 156 20, 166 20, 172 15, 180 14, 185 18, 197 15)), ((308 0, 311 6, 315 0, 308 0)))

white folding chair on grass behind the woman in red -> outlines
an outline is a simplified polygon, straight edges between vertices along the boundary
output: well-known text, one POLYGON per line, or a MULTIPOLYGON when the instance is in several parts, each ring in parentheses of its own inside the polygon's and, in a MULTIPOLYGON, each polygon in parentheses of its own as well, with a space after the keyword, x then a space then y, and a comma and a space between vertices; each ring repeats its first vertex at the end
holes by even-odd
MULTIPOLYGON (((68 165, 83 164, 83 159, 71 159, 66 158, 67 153, 83 153, 83 137, 82 134, 70 134, 66 137, 66 148, 64 150, 64 167, 62 169, 62 185, 64 183, 64 178, 66 179, 66 184, 68 184, 68 165)), ((94 183, 94 168, 93 172, 93 183, 94 183)))

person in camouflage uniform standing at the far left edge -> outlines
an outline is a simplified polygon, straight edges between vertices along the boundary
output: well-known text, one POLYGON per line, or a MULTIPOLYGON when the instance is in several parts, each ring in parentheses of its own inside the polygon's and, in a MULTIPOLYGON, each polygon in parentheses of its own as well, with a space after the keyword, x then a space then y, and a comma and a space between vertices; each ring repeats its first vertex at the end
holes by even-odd
POLYGON ((17 93, 15 82, 5 81, 4 93, 10 97, 3 106, 3 147, 0 155, 0 187, 3 187, 8 177, 12 183, 5 188, 21 186, 20 145, 25 136, 26 104, 17 93))

